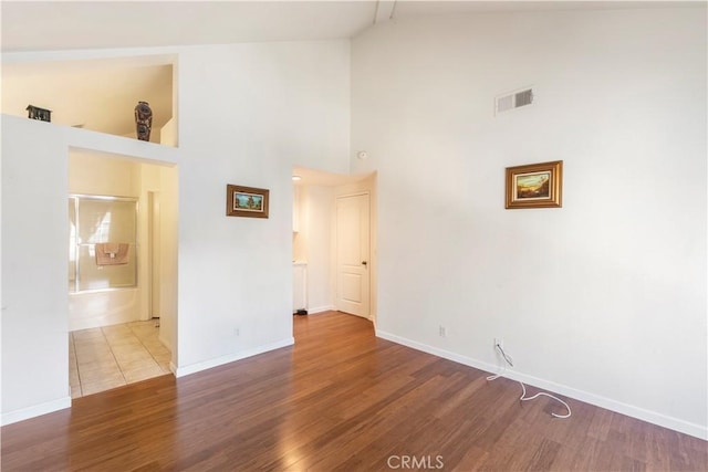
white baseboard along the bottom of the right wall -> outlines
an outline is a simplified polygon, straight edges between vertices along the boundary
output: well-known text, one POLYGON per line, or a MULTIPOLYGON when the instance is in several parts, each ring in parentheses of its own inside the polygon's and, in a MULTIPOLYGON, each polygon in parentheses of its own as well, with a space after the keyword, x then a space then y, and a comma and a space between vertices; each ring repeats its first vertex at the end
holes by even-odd
MULTIPOLYGON (((404 346, 410 347, 416 350, 421 350, 424 353, 433 354, 434 356, 442 357, 445 359, 454 360, 456 363, 464 364, 466 366, 475 367, 477 369, 480 369, 490 374, 497 374, 499 371, 499 366, 497 365, 491 365, 488 363, 483 363, 481 360, 472 359, 471 357, 466 357, 459 354, 450 353, 449 350, 445 350, 437 347, 428 346, 426 344, 417 343, 415 340, 399 337, 391 333, 376 331, 376 336, 383 339, 391 340, 396 344, 402 344, 404 346)), ((636 418, 642 421, 650 422, 653 424, 657 424, 664 428, 668 428, 674 431, 683 432, 685 434, 689 434, 702 440, 708 440, 708 428, 697 423, 691 423, 688 421, 680 420, 678 418, 668 417, 666 415, 662 415, 656 411, 645 410, 643 408, 635 407, 633 405, 623 403, 621 401, 616 401, 611 398, 605 398, 605 397, 594 395, 584 390, 577 390, 572 387, 555 384, 550 380, 529 376, 514 370, 509 370, 509 369, 506 370, 503 373, 503 377, 522 381, 535 388, 548 390, 554 394, 560 394, 565 397, 573 398, 575 400, 584 401, 586 403, 594 405, 596 407, 604 408, 606 410, 615 411, 617 413, 626 415, 628 417, 636 418)))

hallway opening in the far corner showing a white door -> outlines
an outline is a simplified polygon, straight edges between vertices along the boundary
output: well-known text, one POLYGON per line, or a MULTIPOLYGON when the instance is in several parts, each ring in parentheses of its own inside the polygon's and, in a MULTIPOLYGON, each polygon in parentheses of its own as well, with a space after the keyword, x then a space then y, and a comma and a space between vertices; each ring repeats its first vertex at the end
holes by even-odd
MULTIPOLYGON (((299 179, 293 185, 292 259, 296 270, 305 271, 308 314, 342 311, 375 323, 376 174, 295 167, 293 176, 299 179), (344 227, 350 229, 337 235, 344 227)), ((303 279, 295 272, 293 282, 303 279)), ((293 293, 300 290, 293 286, 293 293)))

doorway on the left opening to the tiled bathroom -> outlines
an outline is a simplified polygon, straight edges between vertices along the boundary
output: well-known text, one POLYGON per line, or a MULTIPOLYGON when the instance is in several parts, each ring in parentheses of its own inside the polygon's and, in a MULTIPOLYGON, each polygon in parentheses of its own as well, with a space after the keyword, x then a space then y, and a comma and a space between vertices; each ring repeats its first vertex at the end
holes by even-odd
POLYGON ((122 213, 113 207, 70 220, 75 248, 70 247, 69 258, 85 252, 83 265, 70 264, 70 281, 80 272, 72 272, 73 266, 83 274, 102 275, 91 286, 75 283, 82 290, 70 293, 72 398, 171 373, 176 319, 168 315, 176 305, 171 271, 177 255, 177 188, 175 168, 70 150, 69 189, 74 199, 93 196, 90 201, 133 204, 128 219, 133 239, 125 237, 125 224, 118 223, 125 219, 118 220, 122 213), (100 262, 94 255, 98 247, 115 244, 127 250, 129 284, 114 276, 128 265, 100 262))

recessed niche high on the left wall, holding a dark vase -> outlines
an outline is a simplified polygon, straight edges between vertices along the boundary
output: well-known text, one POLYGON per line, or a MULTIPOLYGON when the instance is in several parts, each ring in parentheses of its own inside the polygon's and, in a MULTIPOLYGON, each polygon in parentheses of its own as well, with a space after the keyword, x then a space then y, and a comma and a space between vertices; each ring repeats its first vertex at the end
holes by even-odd
POLYGON ((135 105, 147 102, 150 141, 176 147, 176 61, 159 55, 3 63, 2 113, 27 117, 32 104, 51 109, 54 125, 137 139, 135 105))

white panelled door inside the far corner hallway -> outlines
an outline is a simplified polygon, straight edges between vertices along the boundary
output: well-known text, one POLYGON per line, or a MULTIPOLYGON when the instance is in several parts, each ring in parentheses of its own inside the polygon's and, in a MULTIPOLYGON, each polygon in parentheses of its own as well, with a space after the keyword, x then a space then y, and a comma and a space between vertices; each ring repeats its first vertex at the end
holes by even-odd
POLYGON ((368 195, 336 199, 336 308, 368 318, 368 195))

